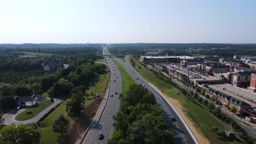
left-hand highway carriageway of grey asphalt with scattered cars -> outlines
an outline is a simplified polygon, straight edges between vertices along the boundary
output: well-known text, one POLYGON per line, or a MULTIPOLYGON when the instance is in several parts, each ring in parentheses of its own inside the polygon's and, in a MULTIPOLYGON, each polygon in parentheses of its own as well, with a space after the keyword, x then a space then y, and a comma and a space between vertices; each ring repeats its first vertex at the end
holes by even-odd
MULTIPOLYGON (((106 49, 106 47, 104 48, 106 49)), ((104 52, 103 49, 103 52, 104 52)), ((106 103, 106 107, 102 113, 102 117, 100 121, 98 122, 98 125, 94 125, 86 135, 83 143, 85 144, 97 144, 97 143, 107 143, 107 140, 113 133, 113 116, 118 110, 119 106, 119 93, 121 93, 121 88, 122 88, 122 81, 121 81, 121 75, 119 70, 117 69, 116 65, 112 61, 111 58, 107 60, 108 64, 110 65, 110 71, 111 71, 111 76, 110 76, 110 87, 109 87, 109 94, 113 94, 113 97, 108 97, 108 101, 106 103), (118 77, 118 78, 117 78, 118 77), (114 82, 115 80, 115 82, 114 82), (118 92, 118 94, 115 94, 115 91, 118 92), (103 133, 104 139, 99 140, 98 135, 100 133, 103 133)))

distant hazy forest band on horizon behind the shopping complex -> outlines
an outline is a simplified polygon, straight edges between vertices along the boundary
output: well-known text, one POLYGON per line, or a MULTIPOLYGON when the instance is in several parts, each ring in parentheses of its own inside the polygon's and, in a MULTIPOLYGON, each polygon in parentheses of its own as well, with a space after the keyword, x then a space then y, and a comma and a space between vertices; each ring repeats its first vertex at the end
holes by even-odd
POLYGON ((256 44, 112 44, 108 50, 116 55, 147 55, 147 52, 157 52, 154 56, 192 56, 201 55, 254 55, 256 44))

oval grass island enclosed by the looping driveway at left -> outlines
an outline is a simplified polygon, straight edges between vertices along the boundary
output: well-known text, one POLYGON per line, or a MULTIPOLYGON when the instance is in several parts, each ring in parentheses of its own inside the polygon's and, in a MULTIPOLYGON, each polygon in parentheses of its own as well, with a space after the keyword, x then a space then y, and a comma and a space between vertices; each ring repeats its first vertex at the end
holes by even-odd
POLYGON ((42 100, 39 101, 38 104, 33 105, 33 107, 28 108, 27 110, 21 112, 19 115, 17 115, 15 117, 15 119, 17 121, 24 121, 27 119, 31 119, 34 116, 36 116, 38 113, 40 113, 41 111, 43 111, 46 107, 48 107, 49 105, 51 105, 51 100, 42 100), (26 112, 28 111, 32 111, 32 113, 30 115, 27 115, 26 112))

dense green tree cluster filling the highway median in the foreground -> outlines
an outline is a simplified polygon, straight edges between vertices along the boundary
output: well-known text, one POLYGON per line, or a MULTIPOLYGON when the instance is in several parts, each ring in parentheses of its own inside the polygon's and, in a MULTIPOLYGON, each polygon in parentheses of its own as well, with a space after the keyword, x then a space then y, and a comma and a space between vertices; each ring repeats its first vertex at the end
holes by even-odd
POLYGON ((120 109, 114 118, 114 133, 108 143, 174 143, 162 110, 152 93, 142 85, 131 85, 120 94, 120 109))

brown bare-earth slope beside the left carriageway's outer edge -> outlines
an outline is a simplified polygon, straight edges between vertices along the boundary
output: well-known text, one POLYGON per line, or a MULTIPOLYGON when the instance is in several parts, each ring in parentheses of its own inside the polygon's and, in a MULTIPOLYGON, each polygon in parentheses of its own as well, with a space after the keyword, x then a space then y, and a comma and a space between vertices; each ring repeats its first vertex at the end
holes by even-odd
POLYGON ((70 143, 79 143, 85 131, 89 127, 94 118, 98 108, 101 105, 102 98, 94 99, 85 106, 85 110, 69 125, 68 137, 70 143))

